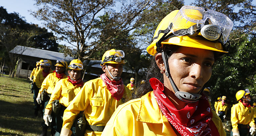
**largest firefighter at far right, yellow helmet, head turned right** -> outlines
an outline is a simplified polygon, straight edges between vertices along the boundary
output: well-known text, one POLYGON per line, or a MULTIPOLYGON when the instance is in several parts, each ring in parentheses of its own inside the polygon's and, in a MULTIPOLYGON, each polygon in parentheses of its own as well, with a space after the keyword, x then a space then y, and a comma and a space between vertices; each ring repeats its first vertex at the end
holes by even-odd
POLYGON ((231 107, 231 136, 248 136, 255 134, 255 121, 252 106, 250 105, 250 91, 248 89, 239 90, 236 93, 238 103, 231 107), (250 128, 249 128, 250 125, 250 128))

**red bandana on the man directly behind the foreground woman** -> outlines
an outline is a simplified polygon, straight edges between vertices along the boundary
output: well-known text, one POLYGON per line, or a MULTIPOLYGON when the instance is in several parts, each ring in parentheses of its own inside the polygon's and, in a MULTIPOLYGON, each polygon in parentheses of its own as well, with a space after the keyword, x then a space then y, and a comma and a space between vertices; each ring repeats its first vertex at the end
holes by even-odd
POLYGON ((111 81, 110 79, 108 79, 108 77, 106 76, 106 73, 100 75, 100 78, 103 80, 103 82, 106 84, 109 92, 111 93, 111 95, 117 100, 119 101, 124 94, 124 85, 123 85, 123 81, 122 79, 118 80, 118 81, 111 81))

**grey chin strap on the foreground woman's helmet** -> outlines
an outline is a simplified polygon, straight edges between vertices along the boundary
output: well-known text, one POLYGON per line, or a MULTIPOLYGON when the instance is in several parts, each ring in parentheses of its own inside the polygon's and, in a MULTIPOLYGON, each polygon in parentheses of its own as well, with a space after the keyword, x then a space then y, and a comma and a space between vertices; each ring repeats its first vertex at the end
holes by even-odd
POLYGON ((179 91, 177 86, 175 85, 172 77, 171 77, 170 70, 169 70, 169 65, 168 65, 168 61, 167 61, 166 56, 165 56, 163 45, 161 46, 161 50, 162 50, 162 52, 161 52, 162 53, 162 58, 163 58, 164 65, 165 65, 165 75, 169 78, 169 81, 170 81, 170 83, 173 87, 173 90, 175 91, 175 96, 178 99, 180 99, 181 101, 186 102, 186 103, 197 102, 199 100, 199 98, 201 97, 200 93, 202 92, 203 88, 200 90, 200 92, 198 94, 179 91))

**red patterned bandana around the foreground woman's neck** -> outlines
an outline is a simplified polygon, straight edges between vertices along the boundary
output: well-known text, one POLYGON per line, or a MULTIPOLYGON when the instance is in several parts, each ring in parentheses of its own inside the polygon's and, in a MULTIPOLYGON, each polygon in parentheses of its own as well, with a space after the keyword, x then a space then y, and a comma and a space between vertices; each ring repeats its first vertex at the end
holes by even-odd
POLYGON ((205 96, 178 110, 163 93, 164 85, 158 79, 151 78, 149 82, 162 113, 182 136, 219 136, 205 96))

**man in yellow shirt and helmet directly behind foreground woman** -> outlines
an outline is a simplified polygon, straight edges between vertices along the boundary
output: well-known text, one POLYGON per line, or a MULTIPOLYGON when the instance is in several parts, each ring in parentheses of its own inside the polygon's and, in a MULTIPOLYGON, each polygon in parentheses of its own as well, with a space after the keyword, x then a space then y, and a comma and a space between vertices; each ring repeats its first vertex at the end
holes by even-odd
POLYGON ((87 121, 85 134, 100 136, 107 121, 118 107, 129 98, 130 90, 123 84, 124 52, 107 50, 101 60, 103 74, 99 78, 86 82, 64 111, 61 136, 70 135, 74 120, 82 111, 87 121))

